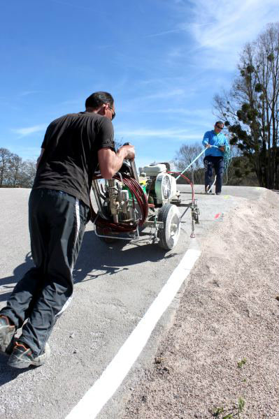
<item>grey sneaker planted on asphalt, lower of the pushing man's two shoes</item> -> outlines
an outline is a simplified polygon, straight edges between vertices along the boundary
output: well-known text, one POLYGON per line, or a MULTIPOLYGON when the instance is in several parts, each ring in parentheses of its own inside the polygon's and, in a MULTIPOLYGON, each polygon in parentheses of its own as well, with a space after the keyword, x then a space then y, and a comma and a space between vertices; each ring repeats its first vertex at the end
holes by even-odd
POLYGON ((40 367, 48 358, 50 358, 49 344, 45 344, 45 351, 41 355, 34 357, 30 348, 19 341, 15 341, 13 352, 8 359, 8 365, 13 368, 28 368, 31 365, 40 367))

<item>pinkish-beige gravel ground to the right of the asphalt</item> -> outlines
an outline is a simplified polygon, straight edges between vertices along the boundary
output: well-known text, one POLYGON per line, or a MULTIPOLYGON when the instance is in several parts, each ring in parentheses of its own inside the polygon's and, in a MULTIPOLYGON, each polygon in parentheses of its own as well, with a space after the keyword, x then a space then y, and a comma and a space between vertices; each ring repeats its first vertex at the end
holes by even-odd
POLYGON ((266 190, 206 237, 122 419, 279 418, 278 210, 266 190))

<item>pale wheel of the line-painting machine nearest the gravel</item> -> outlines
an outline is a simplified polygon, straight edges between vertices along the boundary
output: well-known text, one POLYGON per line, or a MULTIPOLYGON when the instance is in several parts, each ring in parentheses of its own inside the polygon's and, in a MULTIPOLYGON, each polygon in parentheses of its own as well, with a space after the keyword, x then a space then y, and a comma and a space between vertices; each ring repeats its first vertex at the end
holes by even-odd
POLYGON ((176 246, 180 235, 180 212, 176 205, 166 204, 159 209, 158 221, 164 223, 164 228, 159 228, 159 247, 171 250, 176 246))

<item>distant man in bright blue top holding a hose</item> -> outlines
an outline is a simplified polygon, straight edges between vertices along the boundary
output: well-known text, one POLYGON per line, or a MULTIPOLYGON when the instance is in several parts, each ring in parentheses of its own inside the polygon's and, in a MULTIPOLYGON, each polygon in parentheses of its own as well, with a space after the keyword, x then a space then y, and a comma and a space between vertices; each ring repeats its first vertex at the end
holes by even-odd
MULTIPOLYGON (((224 124, 222 121, 215 122, 214 130, 207 131, 203 135, 203 145, 206 147, 203 159, 206 172, 204 175, 204 186, 206 193, 210 191, 213 184, 213 168, 216 175, 215 193, 220 195, 222 191, 222 176, 224 172, 224 152, 229 148, 227 137, 222 133, 224 124)), ((211 191, 210 191, 211 192, 211 191)))

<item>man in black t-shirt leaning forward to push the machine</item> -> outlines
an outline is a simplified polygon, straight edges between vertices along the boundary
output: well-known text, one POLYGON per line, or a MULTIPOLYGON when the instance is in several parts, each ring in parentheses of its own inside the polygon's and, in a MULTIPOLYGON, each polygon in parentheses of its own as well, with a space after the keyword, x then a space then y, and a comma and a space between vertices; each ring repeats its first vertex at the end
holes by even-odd
POLYGON ((113 97, 98 91, 85 101, 85 112, 51 122, 38 158, 29 198, 32 267, 15 286, 0 312, 0 350, 8 365, 42 365, 57 317, 71 302, 73 267, 86 223, 90 219, 92 175, 99 164, 110 179, 124 159, 134 159, 134 147, 115 152, 113 97), (26 323, 24 323, 26 321, 26 323), (18 328, 22 335, 14 338, 18 328))

